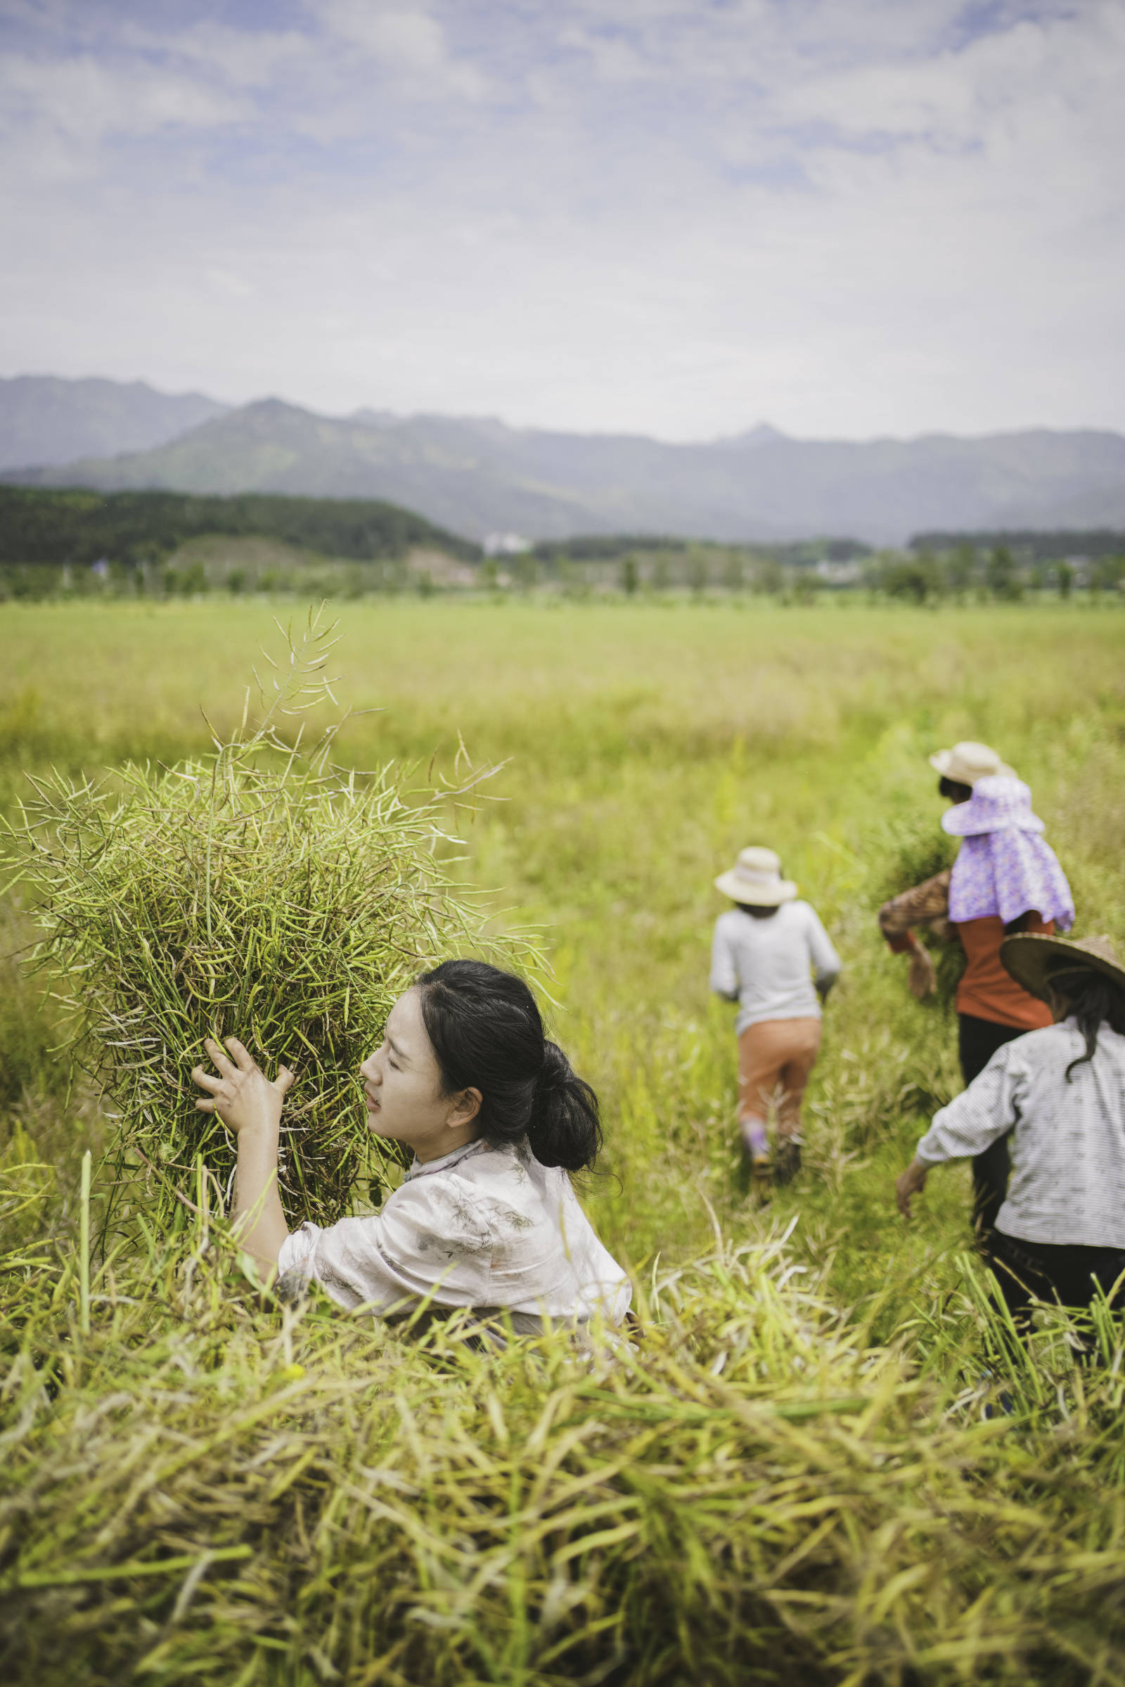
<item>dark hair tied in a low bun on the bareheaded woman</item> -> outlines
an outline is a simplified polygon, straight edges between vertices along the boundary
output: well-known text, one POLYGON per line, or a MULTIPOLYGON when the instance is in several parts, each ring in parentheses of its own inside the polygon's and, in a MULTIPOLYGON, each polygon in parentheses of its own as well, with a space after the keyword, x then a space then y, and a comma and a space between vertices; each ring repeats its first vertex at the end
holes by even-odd
POLYGON ((447 1095, 481 1091, 481 1135, 521 1142, 541 1166, 582 1171, 602 1145, 594 1090, 543 1036, 530 989, 482 960, 445 960, 418 978, 422 1019, 447 1095))

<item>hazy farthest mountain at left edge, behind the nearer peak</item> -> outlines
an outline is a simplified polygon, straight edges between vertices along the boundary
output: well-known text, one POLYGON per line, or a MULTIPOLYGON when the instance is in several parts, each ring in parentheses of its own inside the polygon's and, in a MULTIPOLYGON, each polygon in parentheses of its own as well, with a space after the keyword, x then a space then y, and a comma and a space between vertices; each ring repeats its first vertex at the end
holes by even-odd
POLYGON ((202 393, 159 393, 145 381, 0 380, 0 469, 150 450, 223 415, 202 393))

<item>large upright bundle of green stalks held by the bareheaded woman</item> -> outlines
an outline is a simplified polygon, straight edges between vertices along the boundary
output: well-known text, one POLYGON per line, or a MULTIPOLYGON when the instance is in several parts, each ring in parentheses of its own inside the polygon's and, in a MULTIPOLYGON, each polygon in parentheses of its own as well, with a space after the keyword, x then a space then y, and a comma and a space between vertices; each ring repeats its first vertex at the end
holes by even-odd
MULTIPOLYGON (((272 680, 261 722, 199 761, 100 783, 37 779, 13 859, 44 933, 35 958, 69 992, 120 1113, 118 1164, 147 1167, 165 1213, 204 1156, 228 1188, 234 1147, 196 1112, 204 1036, 238 1034, 299 1073, 282 1122, 290 1221, 334 1221, 376 1169, 358 1064, 418 965, 474 923, 435 857, 439 798, 391 768, 331 761, 339 719, 302 751, 283 722, 326 695, 332 628, 315 616, 272 680)), ((265 688, 260 685, 263 705, 265 688)))

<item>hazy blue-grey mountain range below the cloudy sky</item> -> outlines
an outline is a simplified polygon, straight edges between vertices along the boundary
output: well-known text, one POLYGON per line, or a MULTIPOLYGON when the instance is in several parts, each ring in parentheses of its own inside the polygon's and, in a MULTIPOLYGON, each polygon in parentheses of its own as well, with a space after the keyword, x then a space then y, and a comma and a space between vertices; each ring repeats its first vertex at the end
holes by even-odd
POLYGON ((106 491, 383 498, 474 540, 508 530, 902 543, 933 528, 1125 525, 1125 435, 1112 432, 843 442, 759 425, 666 444, 474 417, 339 418, 278 398, 226 408, 142 383, 32 376, 0 381, 0 469, 7 481, 106 491), (98 444, 69 457, 83 428, 98 444), (138 445, 145 428, 160 437, 138 445))

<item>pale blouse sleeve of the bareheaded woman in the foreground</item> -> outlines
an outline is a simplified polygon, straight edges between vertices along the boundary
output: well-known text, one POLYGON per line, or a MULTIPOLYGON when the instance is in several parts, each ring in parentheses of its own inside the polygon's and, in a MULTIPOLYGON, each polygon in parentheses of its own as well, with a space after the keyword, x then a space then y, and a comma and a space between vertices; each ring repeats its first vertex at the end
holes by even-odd
POLYGON ((486 1306, 494 1243, 487 1213, 457 1184, 418 1178, 395 1189, 381 1213, 302 1225, 282 1243, 278 1270, 319 1282, 349 1311, 408 1309, 423 1297, 486 1306))

